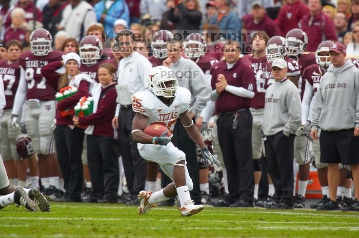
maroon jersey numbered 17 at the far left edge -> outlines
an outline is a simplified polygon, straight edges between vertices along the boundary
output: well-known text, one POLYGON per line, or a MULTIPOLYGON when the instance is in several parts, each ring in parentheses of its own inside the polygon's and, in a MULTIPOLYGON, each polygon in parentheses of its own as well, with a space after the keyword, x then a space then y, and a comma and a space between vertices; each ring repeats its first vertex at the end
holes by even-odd
POLYGON ((20 66, 18 61, 9 63, 4 59, 0 61, 0 78, 4 82, 4 92, 6 99, 6 106, 4 109, 12 109, 14 105, 14 98, 20 79, 20 66))

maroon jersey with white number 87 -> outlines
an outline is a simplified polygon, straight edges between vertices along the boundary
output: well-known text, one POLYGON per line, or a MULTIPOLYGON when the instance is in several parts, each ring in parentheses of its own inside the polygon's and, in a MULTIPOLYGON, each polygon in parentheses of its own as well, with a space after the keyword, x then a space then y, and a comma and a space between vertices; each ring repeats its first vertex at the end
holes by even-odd
POLYGON ((26 99, 38 99, 42 101, 55 100, 55 89, 47 82, 41 73, 41 68, 49 62, 63 60, 64 52, 51 51, 46 56, 36 56, 27 51, 21 54, 19 66, 25 70, 27 81, 26 99))

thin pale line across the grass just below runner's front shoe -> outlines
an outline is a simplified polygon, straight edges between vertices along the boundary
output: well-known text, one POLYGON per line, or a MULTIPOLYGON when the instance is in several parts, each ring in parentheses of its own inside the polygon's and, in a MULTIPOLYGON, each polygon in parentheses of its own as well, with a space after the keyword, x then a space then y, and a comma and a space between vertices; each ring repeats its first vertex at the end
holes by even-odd
MULTIPOLYGON (((54 217, 37 217, 37 218, 19 218, 19 217, 2 217, 1 220, 9 219, 9 220, 44 220, 44 221, 54 221, 54 220, 66 220, 66 221, 159 221, 159 222, 173 222, 173 219, 151 219, 149 217, 143 218, 54 218, 54 217)), ((181 220, 178 220, 181 221, 181 220)), ((185 221, 185 220, 183 220, 185 221)), ((223 221, 223 220, 197 220, 191 219, 191 222, 208 222, 208 223, 236 223, 236 224, 290 224, 290 226, 282 226, 282 227, 298 227, 292 226, 293 224, 331 224, 331 225, 358 225, 357 223, 348 223, 348 222, 296 222, 296 221, 223 221)), ((11 225, 11 224, 10 224, 11 225)), ((21 225, 18 225, 21 226, 21 225)), ((24 225, 25 226, 25 225, 24 225)), ((26 226, 28 226, 26 224, 26 226)), ((267 226, 266 226, 267 227, 267 226)), ((324 227, 324 226, 323 226, 324 227)), ((336 228, 336 227, 334 227, 336 228)), ((348 227, 349 228, 349 227, 348 227)), ((355 227, 354 227, 355 228, 355 227)), ((157 228, 155 228, 157 229, 157 228)), ((221 228, 222 229, 222 228, 221 228)), ((359 229, 359 227, 357 227, 359 229)))

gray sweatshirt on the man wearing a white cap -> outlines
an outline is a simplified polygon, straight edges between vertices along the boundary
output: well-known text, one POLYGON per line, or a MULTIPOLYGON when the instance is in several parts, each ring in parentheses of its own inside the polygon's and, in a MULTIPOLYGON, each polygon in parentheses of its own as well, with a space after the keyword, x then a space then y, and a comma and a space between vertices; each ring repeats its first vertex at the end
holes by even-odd
POLYGON ((271 84, 266 90, 263 133, 273 136, 282 132, 289 136, 301 126, 302 107, 298 89, 289 79, 271 84))

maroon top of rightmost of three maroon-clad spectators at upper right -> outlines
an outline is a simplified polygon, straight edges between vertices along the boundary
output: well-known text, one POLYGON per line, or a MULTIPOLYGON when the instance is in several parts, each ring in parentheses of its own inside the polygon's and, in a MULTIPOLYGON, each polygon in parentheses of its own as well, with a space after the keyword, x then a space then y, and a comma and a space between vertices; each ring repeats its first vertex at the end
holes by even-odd
POLYGON ((333 21, 322 12, 316 16, 303 16, 298 26, 308 35, 307 51, 316 51, 324 40, 337 40, 333 21))

